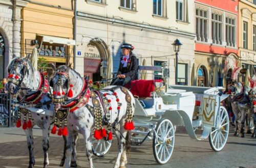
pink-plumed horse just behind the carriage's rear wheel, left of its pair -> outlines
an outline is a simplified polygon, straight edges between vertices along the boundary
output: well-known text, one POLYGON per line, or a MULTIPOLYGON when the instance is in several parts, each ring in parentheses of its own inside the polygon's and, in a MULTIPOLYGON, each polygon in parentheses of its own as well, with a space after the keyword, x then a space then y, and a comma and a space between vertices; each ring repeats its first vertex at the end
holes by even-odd
MULTIPOLYGON (((252 108, 251 108, 251 102, 248 96, 248 92, 246 87, 241 83, 237 81, 238 73, 240 72, 242 68, 235 67, 232 71, 232 80, 233 80, 233 87, 234 94, 231 99, 231 106, 234 113, 234 116, 236 118, 236 131, 234 132, 234 136, 239 135, 239 113, 241 114, 241 137, 245 137, 245 119, 246 119, 246 113, 248 114, 248 118, 250 119, 252 115, 252 108)), ((250 122, 250 120, 249 120, 250 122)), ((250 133, 250 128, 248 126, 247 133, 250 133)))

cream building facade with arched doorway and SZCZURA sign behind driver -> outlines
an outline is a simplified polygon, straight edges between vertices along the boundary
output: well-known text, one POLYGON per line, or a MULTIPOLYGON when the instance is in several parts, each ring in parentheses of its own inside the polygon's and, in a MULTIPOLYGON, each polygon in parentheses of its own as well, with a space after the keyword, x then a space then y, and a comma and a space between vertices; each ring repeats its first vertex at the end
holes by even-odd
POLYGON ((177 83, 190 85, 196 37, 194 7, 194 1, 188 0, 78 0, 76 70, 99 80, 101 62, 106 61, 110 77, 118 69, 120 47, 126 42, 134 45, 139 65, 168 62, 172 85, 176 61, 172 43, 179 39, 183 45, 177 83))

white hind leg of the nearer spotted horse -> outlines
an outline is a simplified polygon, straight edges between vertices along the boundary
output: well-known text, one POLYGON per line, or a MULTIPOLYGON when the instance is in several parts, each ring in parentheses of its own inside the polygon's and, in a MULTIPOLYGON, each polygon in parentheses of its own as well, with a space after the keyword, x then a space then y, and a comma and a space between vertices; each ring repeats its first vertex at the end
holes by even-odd
MULTIPOLYGON (((120 166, 120 159, 122 156, 122 153, 124 151, 124 147, 125 147, 125 136, 127 131, 123 128, 123 120, 121 120, 122 122, 120 123, 120 140, 118 140, 118 154, 117 154, 117 158, 116 158, 116 163, 114 165, 114 168, 119 168, 120 166)), ((126 155, 125 155, 126 157, 126 155)), ((122 161, 122 165, 125 165, 125 163, 122 161)))

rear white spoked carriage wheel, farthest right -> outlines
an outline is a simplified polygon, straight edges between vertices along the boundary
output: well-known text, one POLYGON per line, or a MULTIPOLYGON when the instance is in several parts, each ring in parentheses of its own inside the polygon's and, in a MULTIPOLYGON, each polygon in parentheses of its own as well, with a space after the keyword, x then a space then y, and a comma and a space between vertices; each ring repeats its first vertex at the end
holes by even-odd
POLYGON ((219 152, 227 143, 229 132, 229 120, 227 110, 221 106, 216 118, 216 127, 211 128, 209 142, 211 148, 219 152))

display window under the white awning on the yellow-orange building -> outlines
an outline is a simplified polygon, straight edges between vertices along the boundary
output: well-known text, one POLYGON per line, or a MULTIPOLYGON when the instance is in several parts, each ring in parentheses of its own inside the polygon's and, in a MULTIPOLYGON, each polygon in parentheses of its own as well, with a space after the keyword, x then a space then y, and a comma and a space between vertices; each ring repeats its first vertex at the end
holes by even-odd
POLYGON ((43 42, 39 51, 40 56, 46 57, 67 57, 67 45, 63 44, 50 44, 43 42))

